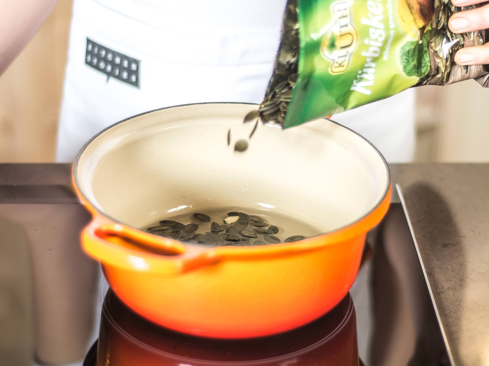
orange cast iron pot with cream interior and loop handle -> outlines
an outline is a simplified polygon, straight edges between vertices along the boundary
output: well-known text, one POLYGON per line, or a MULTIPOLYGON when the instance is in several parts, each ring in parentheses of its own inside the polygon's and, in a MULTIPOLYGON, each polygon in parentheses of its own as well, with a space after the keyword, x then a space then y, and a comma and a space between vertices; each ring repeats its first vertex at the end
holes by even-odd
POLYGON ((285 131, 260 126, 248 151, 237 155, 225 142, 227 131, 248 128, 243 116, 253 108, 203 103, 138 115, 99 133, 74 163, 75 189, 93 215, 83 248, 101 262, 117 296, 158 325, 250 338, 310 323, 347 294, 365 235, 388 209, 384 159, 332 121, 285 131), (259 177, 228 174, 264 157, 274 163, 259 177), (285 212, 324 234, 294 243, 209 247, 141 229, 176 211, 233 204, 265 216, 285 212))

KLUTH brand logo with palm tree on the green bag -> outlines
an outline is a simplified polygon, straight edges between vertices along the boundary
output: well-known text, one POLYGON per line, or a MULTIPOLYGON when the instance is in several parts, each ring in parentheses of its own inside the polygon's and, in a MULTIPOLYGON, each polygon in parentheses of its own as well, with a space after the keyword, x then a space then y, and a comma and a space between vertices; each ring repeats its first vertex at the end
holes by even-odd
POLYGON ((350 1, 335 1, 331 5, 333 19, 321 42, 321 56, 331 61, 330 73, 342 74, 348 69, 358 44, 358 34, 353 26, 350 1))

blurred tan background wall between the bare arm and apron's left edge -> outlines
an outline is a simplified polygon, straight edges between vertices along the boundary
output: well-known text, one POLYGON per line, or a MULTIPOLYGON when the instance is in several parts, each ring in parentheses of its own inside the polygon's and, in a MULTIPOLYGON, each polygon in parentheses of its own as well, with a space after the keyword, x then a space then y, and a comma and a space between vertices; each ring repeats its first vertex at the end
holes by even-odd
POLYGON ((0 77, 0 162, 54 160, 71 0, 53 13, 0 77))

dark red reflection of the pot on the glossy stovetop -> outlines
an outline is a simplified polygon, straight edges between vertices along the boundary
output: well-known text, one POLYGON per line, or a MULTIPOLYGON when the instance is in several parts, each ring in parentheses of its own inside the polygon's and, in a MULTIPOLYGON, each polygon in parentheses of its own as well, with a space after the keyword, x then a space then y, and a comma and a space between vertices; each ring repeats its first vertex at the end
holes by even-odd
POLYGON ((264 338, 217 340, 154 325, 109 290, 97 348, 97 366, 358 365, 355 308, 349 294, 325 316, 292 331, 264 338))

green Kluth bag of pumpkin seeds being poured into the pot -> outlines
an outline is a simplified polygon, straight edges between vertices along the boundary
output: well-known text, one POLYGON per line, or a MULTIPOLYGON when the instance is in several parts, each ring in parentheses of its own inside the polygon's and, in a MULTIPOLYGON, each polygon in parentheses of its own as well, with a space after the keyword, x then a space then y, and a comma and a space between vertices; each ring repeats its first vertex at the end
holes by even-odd
POLYGON ((449 0, 289 0, 262 121, 289 128, 418 85, 476 79, 487 87, 487 66, 453 61, 459 48, 488 40, 484 30, 448 29, 453 13, 471 7, 449 0))

